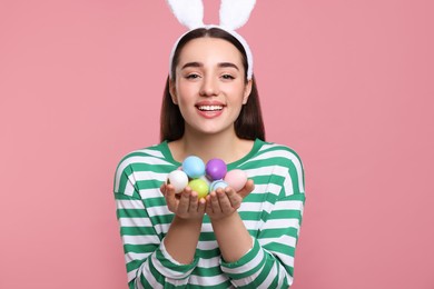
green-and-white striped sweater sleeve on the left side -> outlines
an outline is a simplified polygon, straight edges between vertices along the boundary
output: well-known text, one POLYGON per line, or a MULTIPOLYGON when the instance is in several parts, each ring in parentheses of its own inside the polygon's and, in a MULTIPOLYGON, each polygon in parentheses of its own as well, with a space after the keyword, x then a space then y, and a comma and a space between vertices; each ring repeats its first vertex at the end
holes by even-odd
POLYGON ((185 288, 198 258, 189 265, 174 260, 140 198, 129 167, 117 171, 115 200, 124 242, 129 288, 185 288))

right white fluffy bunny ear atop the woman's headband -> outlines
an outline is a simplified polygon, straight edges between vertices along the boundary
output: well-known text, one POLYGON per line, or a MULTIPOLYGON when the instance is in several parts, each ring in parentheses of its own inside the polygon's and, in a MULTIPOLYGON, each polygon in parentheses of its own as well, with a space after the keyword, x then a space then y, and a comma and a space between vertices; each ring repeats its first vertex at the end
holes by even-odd
POLYGON ((220 27, 236 30, 243 27, 254 9, 256 0, 221 0, 220 27))

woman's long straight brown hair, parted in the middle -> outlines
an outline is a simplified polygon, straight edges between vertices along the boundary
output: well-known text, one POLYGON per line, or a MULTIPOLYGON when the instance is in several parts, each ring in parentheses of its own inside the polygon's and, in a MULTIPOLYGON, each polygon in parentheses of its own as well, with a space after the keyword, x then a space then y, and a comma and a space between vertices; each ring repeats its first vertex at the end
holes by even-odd
MULTIPOLYGON (((190 41, 197 38, 211 37, 218 38, 233 43, 241 53, 243 66, 245 70, 245 81, 247 82, 247 56, 243 44, 230 33, 219 28, 198 28, 186 33, 178 42, 176 47, 172 63, 171 76, 166 80, 165 92, 162 96, 161 114, 160 114, 160 141, 172 141, 180 139, 184 134, 185 122, 179 111, 170 97, 169 83, 175 81, 175 69, 179 62, 179 54, 183 48, 190 41)), ((241 111, 237 120, 235 121, 235 132, 240 139, 262 139, 265 140, 265 129, 263 122, 263 114, 259 104, 259 94, 256 87, 255 77, 251 78, 251 92, 248 97, 246 104, 243 106, 241 111)))

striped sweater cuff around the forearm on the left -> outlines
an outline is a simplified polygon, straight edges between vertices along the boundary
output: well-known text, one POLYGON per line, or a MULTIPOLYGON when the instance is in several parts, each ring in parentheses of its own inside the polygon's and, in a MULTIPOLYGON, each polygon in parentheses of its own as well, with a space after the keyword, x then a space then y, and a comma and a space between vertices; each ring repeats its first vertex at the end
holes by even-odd
POLYGON ((160 247, 152 253, 151 262, 156 270, 162 276, 170 279, 185 279, 191 275, 191 271, 196 268, 199 258, 195 255, 194 260, 190 263, 180 263, 175 260, 170 253, 166 250, 165 240, 161 240, 160 247))

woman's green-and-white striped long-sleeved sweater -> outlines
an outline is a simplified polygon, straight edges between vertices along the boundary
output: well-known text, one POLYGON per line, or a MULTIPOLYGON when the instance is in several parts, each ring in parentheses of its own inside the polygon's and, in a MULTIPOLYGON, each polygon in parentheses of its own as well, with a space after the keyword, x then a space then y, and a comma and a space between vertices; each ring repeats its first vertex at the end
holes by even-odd
POLYGON ((206 215, 191 263, 177 262, 165 249, 174 213, 159 187, 180 165, 165 141, 127 155, 117 167, 115 198, 129 288, 288 288, 305 203, 297 153, 257 139, 247 156, 228 165, 255 182, 238 209, 254 246, 231 263, 221 258, 206 215))

